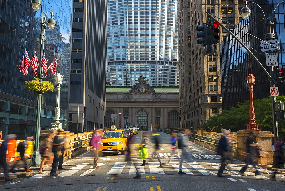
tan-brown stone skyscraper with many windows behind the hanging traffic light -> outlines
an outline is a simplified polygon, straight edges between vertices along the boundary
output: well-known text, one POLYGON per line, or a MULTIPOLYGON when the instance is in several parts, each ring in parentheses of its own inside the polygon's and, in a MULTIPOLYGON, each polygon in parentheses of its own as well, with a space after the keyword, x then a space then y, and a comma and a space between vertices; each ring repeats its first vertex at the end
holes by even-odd
MULTIPOLYGON (((196 27, 208 23, 207 13, 228 29, 239 23, 241 0, 178 0, 180 127, 197 129, 222 108, 219 44, 214 55, 203 56, 196 27), (223 21, 222 21, 222 20, 223 21)), ((219 27, 220 41, 227 32, 219 27)))

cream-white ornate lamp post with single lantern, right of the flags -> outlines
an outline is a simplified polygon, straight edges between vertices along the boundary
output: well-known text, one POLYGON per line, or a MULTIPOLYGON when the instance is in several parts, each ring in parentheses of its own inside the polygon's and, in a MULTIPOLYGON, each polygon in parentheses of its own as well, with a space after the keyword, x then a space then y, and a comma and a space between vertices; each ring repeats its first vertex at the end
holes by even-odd
POLYGON ((55 106, 55 114, 54 114, 54 122, 52 123, 52 129, 58 130, 61 129, 62 123, 60 123, 60 105, 59 105, 59 93, 60 93, 60 85, 62 84, 63 76, 60 73, 57 73, 54 76, 54 80, 56 83, 56 106, 55 106))

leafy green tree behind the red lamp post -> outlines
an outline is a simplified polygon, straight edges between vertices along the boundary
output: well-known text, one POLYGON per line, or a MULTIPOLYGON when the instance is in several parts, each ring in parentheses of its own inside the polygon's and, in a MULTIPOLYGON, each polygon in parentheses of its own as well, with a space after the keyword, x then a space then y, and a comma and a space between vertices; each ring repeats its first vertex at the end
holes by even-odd
MULTIPOLYGON (((285 102, 285 96, 277 96, 276 101, 285 102)), ((271 98, 254 100, 255 122, 262 131, 273 131, 271 98)), ((221 129, 232 129, 233 132, 247 129, 249 123, 249 101, 238 103, 230 110, 223 110, 221 114, 209 118, 203 129, 221 132, 221 129)), ((279 135, 285 132, 284 120, 278 120, 279 135)))

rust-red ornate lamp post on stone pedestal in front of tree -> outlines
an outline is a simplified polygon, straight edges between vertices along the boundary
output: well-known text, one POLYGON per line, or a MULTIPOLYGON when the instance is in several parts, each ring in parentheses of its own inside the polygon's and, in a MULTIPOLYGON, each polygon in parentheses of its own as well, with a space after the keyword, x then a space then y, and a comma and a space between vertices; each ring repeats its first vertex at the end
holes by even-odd
POLYGON ((246 131, 249 130, 255 130, 255 131, 260 131, 258 129, 258 124, 255 123, 254 119, 254 107, 253 107, 253 84, 255 81, 255 76, 252 74, 249 74, 245 77, 247 79, 247 85, 249 85, 249 123, 247 124, 247 129, 246 131))

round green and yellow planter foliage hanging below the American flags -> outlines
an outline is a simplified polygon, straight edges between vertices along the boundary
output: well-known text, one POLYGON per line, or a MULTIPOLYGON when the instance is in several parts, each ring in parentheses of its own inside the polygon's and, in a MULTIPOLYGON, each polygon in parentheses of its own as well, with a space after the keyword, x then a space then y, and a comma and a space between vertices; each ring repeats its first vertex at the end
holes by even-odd
POLYGON ((53 91, 54 85, 48 81, 41 81, 39 78, 35 78, 35 80, 26 81, 25 89, 28 91, 34 91, 36 93, 45 93, 46 91, 53 91))

